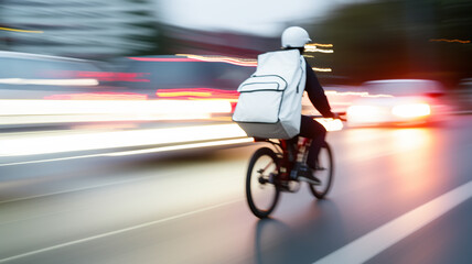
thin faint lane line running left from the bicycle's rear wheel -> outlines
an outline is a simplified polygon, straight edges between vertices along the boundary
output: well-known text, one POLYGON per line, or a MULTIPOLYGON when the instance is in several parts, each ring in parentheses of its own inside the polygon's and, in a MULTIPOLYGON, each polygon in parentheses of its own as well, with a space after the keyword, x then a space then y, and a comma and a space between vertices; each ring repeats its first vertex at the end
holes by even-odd
POLYGON ((129 227, 129 228, 124 228, 124 229, 119 229, 119 230, 115 230, 115 231, 110 231, 110 232, 106 232, 106 233, 101 233, 101 234, 88 237, 88 238, 85 238, 85 239, 74 240, 74 241, 71 241, 71 242, 66 242, 66 243, 62 243, 62 244, 57 244, 57 245, 44 248, 44 249, 41 249, 41 250, 30 251, 30 252, 26 252, 26 253, 23 253, 23 254, 19 254, 19 255, 14 255, 14 256, 9 256, 9 257, 6 257, 6 258, 1 258, 0 263, 7 263, 9 261, 15 261, 15 260, 19 260, 19 258, 22 258, 22 257, 26 257, 26 256, 31 256, 31 255, 44 253, 44 252, 47 252, 47 251, 54 251, 54 250, 58 250, 58 249, 66 248, 66 246, 69 246, 69 245, 76 245, 76 244, 89 242, 89 241, 97 240, 97 239, 103 239, 103 238, 107 238, 107 237, 111 237, 111 235, 121 234, 121 233, 126 233, 126 232, 129 232, 129 231, 142 229, 142 228, 148 228, 148 227, 151 227, 151 226, 154 226, 154 224, 159 224, 159 223, 163 223, 163 222, 167 222, 167 221, 176 220, 176 219, 189 217, 189 216, 196 215, 196 213, 200 213, 200 212, 210 211, 210 210, 213 210, 213 209, 216 209, 216 208, 225 207, 225 206, 228 206, 228 205, 232 205, 232 204, 239 202, 242 200, 243 199, 236 199, 236 200, 232 200, 232 201, 226 201, 226 202, 223 202, 223 204, 204 207, 204 208, 201 208, 201 209, 197 209, 197 210, 194 210, 194 211, 184 212, 184 213, 181 213, 181 215, 176 215, 176 216, 172 216, 172 217, 159 219, 159 220, 155 220, 155 221, 150 221, 150 222, 137 224, 137 226, 132 226, 132 227, 129 227))

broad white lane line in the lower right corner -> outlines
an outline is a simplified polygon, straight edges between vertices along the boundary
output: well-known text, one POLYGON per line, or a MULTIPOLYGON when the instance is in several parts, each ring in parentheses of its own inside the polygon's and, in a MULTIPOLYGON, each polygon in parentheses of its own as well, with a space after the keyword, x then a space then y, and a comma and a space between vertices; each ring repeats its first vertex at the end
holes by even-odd
POLYGON ((365 263, 472 197, 472 180, 385 223, 313 264, 365 263))

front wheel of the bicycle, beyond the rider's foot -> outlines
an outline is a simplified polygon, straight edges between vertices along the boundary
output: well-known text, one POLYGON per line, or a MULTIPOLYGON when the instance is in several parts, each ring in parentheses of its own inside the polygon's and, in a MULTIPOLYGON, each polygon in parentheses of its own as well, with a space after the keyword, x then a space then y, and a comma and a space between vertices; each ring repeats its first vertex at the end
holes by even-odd
POLYGON ((324 142, 317 160, 315 176, 320 179, 320 185, 309 185, 311 193, 318 199, 323 199, 331 189, 333 183, 333 153, 330 145, 324 142))

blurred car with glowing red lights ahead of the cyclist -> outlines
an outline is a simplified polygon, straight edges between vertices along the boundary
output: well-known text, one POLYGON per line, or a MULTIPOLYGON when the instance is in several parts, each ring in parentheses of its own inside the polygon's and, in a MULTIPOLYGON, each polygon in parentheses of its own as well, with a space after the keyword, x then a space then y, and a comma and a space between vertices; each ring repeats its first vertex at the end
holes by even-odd
POLYGON ((416 125, 441 121, 448 107, 441 101, 443 86, 426 79, 372 80, 362 85, 368 96, 352 102, 350 127, 416 125))

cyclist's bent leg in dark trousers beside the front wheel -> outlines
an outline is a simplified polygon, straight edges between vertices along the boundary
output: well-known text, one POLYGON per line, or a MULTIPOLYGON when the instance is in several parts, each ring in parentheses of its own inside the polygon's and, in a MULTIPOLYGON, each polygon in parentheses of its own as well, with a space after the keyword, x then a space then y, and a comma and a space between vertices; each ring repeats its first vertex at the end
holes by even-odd
POLYGON ((326 136, 326 129, 313 119, 301 116, 300 135, 312 140, 308 152, 307 165, 314 169, 318 154, 326 136))

